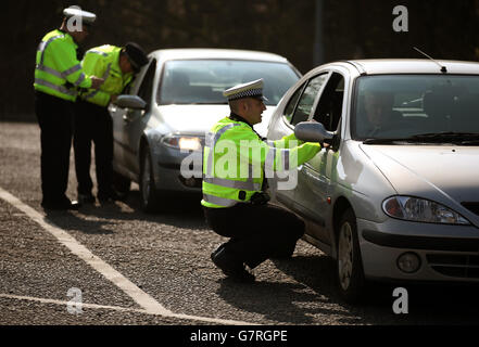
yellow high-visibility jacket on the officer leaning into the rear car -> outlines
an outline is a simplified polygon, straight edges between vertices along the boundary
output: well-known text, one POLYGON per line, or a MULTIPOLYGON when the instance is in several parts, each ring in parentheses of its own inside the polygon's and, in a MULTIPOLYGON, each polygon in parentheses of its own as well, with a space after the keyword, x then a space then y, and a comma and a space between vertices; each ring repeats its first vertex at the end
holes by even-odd
POLYGON ((92 48, 85 53, 81 62, 87 74, 104 79, 98 90, 88 90, 80 94, 80 98, 99 106, 106 107, 111 97, 121 94, 125 87, 131 81, 133 74, 123 74, 119 68, 119 52, 122 48, 104 44, 92 48))

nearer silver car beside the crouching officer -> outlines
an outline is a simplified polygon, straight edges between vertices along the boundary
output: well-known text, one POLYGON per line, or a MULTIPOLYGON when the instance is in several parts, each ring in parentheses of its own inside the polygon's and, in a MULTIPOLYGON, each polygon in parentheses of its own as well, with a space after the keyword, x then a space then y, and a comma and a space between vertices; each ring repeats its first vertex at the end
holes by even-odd
POLYGON ((479 281, 479 64, 319 66, 278 104, 268 139, 293 131, 330 146, 272 194, 337 260, 346 300, 369 280, 479 281))

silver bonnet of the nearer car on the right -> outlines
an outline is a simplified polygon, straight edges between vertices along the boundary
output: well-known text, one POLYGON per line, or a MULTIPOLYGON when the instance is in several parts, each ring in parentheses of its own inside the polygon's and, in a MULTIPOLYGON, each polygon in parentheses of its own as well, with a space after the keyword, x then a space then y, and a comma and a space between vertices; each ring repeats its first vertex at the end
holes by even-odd
POLYGON ((461 204, 479 202, 479 147, 445 145, 366 145, 400 195, 461 204))

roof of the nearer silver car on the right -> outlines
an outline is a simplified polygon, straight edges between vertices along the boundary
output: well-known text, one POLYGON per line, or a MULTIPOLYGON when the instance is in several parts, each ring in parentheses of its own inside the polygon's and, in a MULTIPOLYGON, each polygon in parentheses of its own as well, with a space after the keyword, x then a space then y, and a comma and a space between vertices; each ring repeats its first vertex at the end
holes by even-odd
MULTIPOLYGON (((445 66, 448 74, 479 74, 479 63, 428 60, 428 59, 368 59, 351 60, 331 63, 349 68, 354 67, 364 75, 381 74, 441 74, 441 66, 445 66)), ((329 65, 329 64, 327 64, 329 65)))

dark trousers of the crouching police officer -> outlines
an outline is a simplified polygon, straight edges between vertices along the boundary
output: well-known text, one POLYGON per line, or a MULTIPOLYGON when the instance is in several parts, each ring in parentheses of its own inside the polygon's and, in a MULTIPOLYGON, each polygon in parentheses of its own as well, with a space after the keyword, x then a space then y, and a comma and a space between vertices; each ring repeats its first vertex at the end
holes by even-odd
POLYGON ((251 269, 268 258, 291 256, 304 234, 304 222, 300 218, 270 204, 203 209, 210 228, 230 237, 220 247, 251 269))

